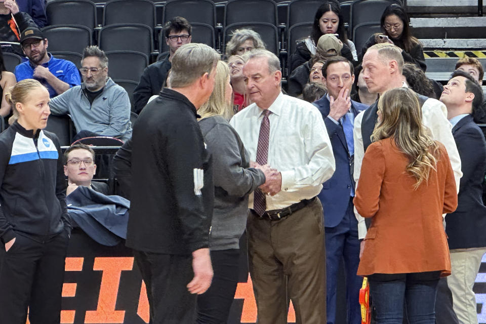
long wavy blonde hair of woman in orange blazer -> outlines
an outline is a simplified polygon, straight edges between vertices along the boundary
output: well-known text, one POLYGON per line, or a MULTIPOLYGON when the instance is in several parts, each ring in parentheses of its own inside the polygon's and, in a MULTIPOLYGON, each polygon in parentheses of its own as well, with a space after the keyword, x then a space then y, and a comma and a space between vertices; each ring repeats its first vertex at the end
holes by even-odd
POLYGON ((400 151, 409 157, 407 172, 417 182, 417 189, 427 182, 431 169, 435 170, 438 156, 437 143, 422 125, 422 110, 418 96, 408 88, 385 92, 378 101, 381 121, 375 127, 371 140, 376 142, 391 137, 400 151))

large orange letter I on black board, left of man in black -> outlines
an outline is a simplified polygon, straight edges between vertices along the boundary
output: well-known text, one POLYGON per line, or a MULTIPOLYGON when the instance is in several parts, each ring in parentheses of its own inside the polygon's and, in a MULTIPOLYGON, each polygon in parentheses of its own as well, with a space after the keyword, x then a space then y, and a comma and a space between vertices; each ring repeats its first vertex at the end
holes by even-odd
POLYGON ((115 310, 121 271, 132 270, 133 257, 95 258, 93 270, 103 271, 96 310, 86 311, 85 323, 123 323, 124 310, 115 310))

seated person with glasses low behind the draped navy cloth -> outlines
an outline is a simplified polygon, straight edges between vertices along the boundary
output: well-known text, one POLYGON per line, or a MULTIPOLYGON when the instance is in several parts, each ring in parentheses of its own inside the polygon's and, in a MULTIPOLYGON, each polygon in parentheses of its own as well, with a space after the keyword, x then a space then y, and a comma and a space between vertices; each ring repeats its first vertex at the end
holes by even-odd
POLYGON ((96 174, 95 151, 85 144, 73 144, 64 152, 64 175, 69 195, 79 186, 85 186, 102 194, 109 194, 108 185, 104 182, 92 181, 96 174))

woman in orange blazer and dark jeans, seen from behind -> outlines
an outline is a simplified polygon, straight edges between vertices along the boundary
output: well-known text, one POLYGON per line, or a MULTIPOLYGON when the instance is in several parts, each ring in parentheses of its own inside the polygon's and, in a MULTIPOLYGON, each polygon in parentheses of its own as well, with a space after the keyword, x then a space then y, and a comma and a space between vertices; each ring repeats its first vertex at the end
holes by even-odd
POLYGON ((422 125, 417 95, 387 91, 363 157, 354 206, 373 217, 358 275, 368 276, 378 324, 434 324, 439 277, 451 274, 442 214, 457 207, 454 173, 444 146, 422 125))

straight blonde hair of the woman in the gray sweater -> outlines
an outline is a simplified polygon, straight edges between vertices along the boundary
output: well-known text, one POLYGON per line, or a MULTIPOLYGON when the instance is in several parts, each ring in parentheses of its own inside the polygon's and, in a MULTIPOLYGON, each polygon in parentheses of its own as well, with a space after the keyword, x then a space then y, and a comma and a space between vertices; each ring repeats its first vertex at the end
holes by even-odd
POLYGON ((208 102, 197 109, 197 113, 201 116, 201 119, 220 115, 229 120, 233 116, 233 102, 226 102, 225 96, 228 78, 228 65, 223 61, 219 61, 216 65, 213 93, 209 97, 208 102))

